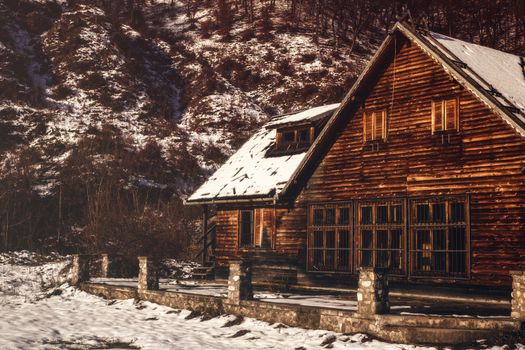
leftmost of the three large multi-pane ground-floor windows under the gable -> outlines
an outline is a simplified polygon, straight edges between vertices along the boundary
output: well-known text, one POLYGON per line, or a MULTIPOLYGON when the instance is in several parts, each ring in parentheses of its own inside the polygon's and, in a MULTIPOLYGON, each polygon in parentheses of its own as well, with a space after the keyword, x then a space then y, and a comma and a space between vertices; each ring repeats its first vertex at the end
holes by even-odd
POLYGON ((351 204, 313 205, 308 220, 308 269, 351 272, 351 204))

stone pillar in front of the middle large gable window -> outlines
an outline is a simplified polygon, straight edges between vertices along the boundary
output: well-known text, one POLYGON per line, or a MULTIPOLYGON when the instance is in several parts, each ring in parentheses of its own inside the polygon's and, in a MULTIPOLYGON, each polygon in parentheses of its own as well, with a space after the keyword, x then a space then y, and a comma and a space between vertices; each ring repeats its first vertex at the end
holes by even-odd
POLYGON ((362 267, 359 270, 357 313, 361 316, 386 314, 390 311, 388 300, 388 270, 362 267))

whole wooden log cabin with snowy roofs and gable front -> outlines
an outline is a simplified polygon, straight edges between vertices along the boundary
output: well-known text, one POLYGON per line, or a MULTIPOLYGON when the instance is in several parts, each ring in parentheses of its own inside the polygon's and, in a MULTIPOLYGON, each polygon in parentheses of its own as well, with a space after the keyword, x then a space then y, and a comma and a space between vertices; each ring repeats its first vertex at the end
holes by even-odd
POLYGON ((509 286, 525 268, 525 60, 397 23, 340 105, 272 119, 189 199, 218 266, 509 286))

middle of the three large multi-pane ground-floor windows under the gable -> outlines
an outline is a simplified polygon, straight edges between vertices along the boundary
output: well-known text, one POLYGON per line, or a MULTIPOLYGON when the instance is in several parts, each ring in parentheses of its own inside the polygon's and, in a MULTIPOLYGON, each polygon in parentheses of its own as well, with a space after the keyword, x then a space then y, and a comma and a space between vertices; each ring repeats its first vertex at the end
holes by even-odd
POLYGON ((405 272, 404 201, 360 202, 357 206, 358 266, 405 272))

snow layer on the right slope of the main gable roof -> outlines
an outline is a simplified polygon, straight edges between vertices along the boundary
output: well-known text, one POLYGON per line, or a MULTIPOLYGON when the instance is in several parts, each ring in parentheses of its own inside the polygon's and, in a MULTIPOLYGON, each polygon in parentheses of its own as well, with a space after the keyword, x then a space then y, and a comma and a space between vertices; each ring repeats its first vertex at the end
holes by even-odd
MULTIPOLYGON (((463 69, 463 71, 480 86, 486 90, 494 88, 501 93, 502 97, 496 96, 499 102, 506 106, 517 107, 525 112, 525 62, 520 56, 438 33, 430 32, 430 38, 431 42, 434 39, 442 45, 442 47, 436 45, 436 48, 446 57, 453 61, 459 59, 467 64, 468 69, 463 69)), ((518 117, 525 121, 523 115, 518 117)))

